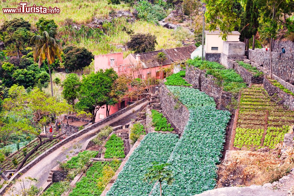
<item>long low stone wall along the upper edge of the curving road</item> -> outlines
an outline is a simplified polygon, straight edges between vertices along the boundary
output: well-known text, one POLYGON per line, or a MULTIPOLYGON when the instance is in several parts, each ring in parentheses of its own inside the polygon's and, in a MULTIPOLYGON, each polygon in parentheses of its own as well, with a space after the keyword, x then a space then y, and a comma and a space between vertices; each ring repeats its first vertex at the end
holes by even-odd
MULTIPOLYGON (((38 157, 36 157, 34 160, 32 160, 29 164, 27 164, 26 166, 24 166, 23 168, 21 168, 21 170, 19 170, 18 172, 16 172, 10 179, 9 179, 9 183, 11 183, 11 181, 19 178, 21 176, 21 174, 24 174, 26 171, 28 171, 31 167, 33 167, 34 165, 36 165, 40 160, 42 160, 43 158, 45 158, 47 155, 49 155, 50 153, 52 153, 54 150, 60 148, 62 145, 65 145, 66 143, 70 142, 71 140, 74 140, 75 138, 83 135, 84 133, 87 133, 88 131, 93 130, 94 128, 102 125, 103 123, 108 122, 109 120, 112 120, 114 118, 116 118, 118 115, 121 115, 122 113, 125 113, 126 111, 134 108, 135 106, 143 103, 145 101, 145 99, 141 99, 139 101, 137 101, 136 103, 133 103, 131 105, 129 105, 126 108, 123 108, 121 110, 119 110, 118 112, 109 115, 108 117, 100 120, 97 123, 94 123, 92 125, 90 125, 87 128, 84 128, 80 131, 78 131, 77 133, 74 133, 72 135, 70 135, 69 137, 65 138, 64 140, 61 140, 59 143, 55 144, 54 146, 52 146, 51 148, 49 148, 48 150, 46 150, 44 153, 42 153, 41 155, 39 155, 38 157)), ((93 135, 95 135, 96 133, 93 133, 93 135)), ((9 184, 4 185, 1 189, 0 189, 0 195, 3 195, 6 191, 6 189, 9 188, 9 184)))

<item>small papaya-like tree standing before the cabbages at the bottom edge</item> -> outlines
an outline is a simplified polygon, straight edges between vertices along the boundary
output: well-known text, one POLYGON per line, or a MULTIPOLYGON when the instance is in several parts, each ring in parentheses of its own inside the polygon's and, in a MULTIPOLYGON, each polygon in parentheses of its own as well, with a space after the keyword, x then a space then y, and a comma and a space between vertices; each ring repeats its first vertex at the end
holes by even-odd
POLYGON ((166 184, 171 185, 175 180, 173 178, 173 172, 168 170, 167 167, 171 165, 170 163, 159 164, 158 162, 153 162, 153 166, 148 169, 145 174, 144 181, 146 182, 159 182, 160 196, 162 196, 161 182, 165 181, 166 184))

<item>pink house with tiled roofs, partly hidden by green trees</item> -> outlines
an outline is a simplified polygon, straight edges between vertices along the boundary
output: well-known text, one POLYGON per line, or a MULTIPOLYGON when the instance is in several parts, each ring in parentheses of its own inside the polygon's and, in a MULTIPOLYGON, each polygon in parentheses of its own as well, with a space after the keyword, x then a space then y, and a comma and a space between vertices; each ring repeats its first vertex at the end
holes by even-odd
MULTIPOLYGON (((190 45, 138 54, 131 53, 126 58, 123 58, 123 52, 95 55, 94 68, 95 72, 99 69, 113 68, 118 73, 118 76, 126 74, 132 78, 146 79, 147 77, 155 77, 157 79, 163 79, 166 76, 165 73, 162 73, 161 67, 167 68, 172 63, 185 61, 191 57, 191 53, 195 50, 196 46, 190 45), (165 53, 167 58, 162 64, 156 60, 156 56, 160 52, 165 53)), ((126 99, 115 106, 111 106, 109 114, 111 115, 119 109, 126 107, 131 101, 130 99, 126 99)), ((96 122, 103 118, 106 118, 106 107, 98 110, 96 122)))

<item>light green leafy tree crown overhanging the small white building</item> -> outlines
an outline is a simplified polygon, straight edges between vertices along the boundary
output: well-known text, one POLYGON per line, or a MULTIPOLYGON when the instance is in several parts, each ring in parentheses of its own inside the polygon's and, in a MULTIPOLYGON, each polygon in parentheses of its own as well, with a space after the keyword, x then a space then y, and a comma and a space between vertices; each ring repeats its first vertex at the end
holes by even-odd
POLYGON ((239 26, 241 19, 234 8, 234 0, 203 0, 206 4, 206 22, 209 30, 219 29, 223 40, 226 40, 228 33, 239 26))

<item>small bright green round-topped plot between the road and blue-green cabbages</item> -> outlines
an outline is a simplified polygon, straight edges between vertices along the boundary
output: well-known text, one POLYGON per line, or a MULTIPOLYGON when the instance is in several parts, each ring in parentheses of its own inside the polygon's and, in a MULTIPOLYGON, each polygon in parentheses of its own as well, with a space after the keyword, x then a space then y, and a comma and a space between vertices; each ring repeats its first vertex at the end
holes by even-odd
POLYGON ((116 134, 112 134, 109 140, 105 144, 106 151, 104 158, 125 158, 125 147, 123 146, 123 140, 116 134))

